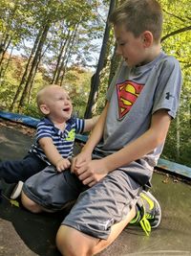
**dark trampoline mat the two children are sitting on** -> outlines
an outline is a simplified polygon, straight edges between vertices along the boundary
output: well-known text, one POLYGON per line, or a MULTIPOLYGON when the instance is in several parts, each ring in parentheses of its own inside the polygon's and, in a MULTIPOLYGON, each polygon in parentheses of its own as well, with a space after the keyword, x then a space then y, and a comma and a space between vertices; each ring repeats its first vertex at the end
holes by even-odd
MULTIPOLYGON (((32 143, 34 129, 0 121, 0 159, 25 155, 32 143)), ((12 186, 6 183, 3 186, 4 195, 9 196, 12 186)), ((159 228, 146 237, 139 226, 130 226, 99 255, 191 256, 190 192, 189 183, 155 172, 152 193, 159 199, 162 209, 159 228)), ((54 237, 66 214, 34 215, 4 197, 0 203, 0 256, 60 256, 54 237)))

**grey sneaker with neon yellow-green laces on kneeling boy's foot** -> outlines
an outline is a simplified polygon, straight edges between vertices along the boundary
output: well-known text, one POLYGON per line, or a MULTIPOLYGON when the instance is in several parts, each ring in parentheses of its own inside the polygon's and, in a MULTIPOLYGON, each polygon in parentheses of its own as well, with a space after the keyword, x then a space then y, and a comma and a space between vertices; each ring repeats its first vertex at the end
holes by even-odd
POLYGON ((159 201, 151 193, 142 191, 139 195, 137 206, 138 214, 130 223, 139 223, 146 233, 150 235, 151 229, 157 228, 161 221, 161 208, 159 201))

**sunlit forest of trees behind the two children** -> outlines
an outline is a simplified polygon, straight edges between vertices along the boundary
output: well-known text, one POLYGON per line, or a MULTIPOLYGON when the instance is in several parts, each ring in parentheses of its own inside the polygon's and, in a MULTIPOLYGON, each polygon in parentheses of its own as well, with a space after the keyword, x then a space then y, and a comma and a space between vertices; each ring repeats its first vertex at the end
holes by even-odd
MULTIPOLYGON (((56 83, 70 92, 79 117, 100 113, 120 62, 107 17, 123 1, 1 0, 0 109, 38 118, 36 92, 56 83)), ((191 166, 191 2, 159 2, 162 49, 179 59, 183 75, 162 158, 191 166)))

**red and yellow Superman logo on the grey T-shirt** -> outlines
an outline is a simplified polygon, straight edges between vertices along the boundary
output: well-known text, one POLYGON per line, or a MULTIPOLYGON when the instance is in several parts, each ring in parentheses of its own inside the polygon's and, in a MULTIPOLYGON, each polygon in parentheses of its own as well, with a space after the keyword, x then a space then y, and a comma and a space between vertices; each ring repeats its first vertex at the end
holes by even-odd
POLYGON ((118 115, 123 118, 135 104, 143 84, 134 81, 117 83, 118 115))

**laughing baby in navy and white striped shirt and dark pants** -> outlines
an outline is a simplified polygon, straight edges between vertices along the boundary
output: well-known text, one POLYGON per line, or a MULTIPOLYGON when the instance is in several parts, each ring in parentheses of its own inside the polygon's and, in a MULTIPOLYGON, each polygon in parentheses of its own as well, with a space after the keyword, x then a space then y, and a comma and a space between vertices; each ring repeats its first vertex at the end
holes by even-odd
POLYGON ((71 166, 69 158, 73 155, 75 133, 94 128, 97 117, 78 119, 72 117, 71 99, 62 87, 52 84, 42 88, 36 97, 37 105, 45 116, 37 125, 36 141, 22 160, 0 163, 0 177, 8 183, 20 180, 11 198, 17 198, 23 181, 30 176, 53 165, 57 172, 71 166))

